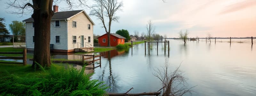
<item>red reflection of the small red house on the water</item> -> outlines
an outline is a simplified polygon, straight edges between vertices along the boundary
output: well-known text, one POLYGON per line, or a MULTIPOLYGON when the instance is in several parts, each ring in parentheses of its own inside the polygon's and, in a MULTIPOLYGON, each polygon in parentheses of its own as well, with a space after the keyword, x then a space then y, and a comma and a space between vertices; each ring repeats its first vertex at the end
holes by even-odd
POLYGON ((115 57, 117 55, 121 55, 121 54, 124 54, 125 51, 122 50, 122 51, 118 51, 118 50, 110 50, 110 51, 107 51, 107 52, 101 52, 101 56, 104 57, 104 58, 112 58, 112 57, 115 57))

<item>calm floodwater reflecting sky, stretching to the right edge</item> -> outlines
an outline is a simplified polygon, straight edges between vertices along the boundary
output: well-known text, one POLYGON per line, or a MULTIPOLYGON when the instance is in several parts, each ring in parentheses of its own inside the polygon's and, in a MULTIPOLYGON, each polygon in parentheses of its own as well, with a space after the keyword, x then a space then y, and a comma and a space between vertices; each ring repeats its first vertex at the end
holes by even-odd
MULTIPOLYGON (((170 71, 180 65, 193 87, 193 96, 255 96, 256 95, 256 44, 205 41, 170 40, 170 56, 164 44, 150 44, 150 55, 144 53, 144 44, 126 50, 102 52, 101 68, 94 69, 92 79, 104 81, 108 92, 156 92, 160 80, 153 76, 154 69, 164 66, 165 58, 170 71)), ((190 94, 188 94, 190 95, 190 94)))

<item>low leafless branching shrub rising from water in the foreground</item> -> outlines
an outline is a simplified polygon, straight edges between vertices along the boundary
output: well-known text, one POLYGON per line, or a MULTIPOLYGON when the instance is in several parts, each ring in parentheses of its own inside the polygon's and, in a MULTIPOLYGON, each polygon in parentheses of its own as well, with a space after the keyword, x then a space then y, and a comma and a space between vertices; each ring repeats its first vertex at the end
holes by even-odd
MULTIPOLYGON (((162 83, 163 95, 162 96, 182 96, 186 93, 192 92, 192 88, 187 88, 187 78, 183 76, 183 71, 177 67, 173 72, 169 72, 170 69, 168 60, 165 58, 164 67, 162 69, 154 69, 156 76, 162 83)), ((195 87, 195 86, 194 86, 195 87)), ((159 90, 159 91, 160 91, 159 90)))

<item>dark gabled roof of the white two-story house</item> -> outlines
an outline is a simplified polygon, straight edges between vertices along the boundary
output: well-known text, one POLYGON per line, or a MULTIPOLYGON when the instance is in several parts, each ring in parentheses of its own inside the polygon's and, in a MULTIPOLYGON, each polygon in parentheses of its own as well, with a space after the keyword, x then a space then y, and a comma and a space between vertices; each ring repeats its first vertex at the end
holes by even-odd
MULTIPOLYGON (((88 16, 88 14, 84 10, 56 12, 53 14, 52 20, 70 20, 72 17, 76 16, 81 12, 84 12, 85 16, 92 22, 93 25, 95 25, 92 19, 88 16)), ((28 21, 34 21, 34 19, 31 17, 23 20, 23 22, 28 22, 28 21)))

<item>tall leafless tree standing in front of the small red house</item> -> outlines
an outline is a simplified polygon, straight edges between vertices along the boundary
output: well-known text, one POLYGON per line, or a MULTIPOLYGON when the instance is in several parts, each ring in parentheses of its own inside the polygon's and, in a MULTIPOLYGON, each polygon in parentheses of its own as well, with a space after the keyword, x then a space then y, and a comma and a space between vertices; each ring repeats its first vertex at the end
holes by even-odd
POLYGON ((106 33, 108 34, 108 46, 110 46, 110 32, 112 21, 118 22, 118 17, 115 16, 117 11, 121 11, 123 2, 117 2, 117 0, 94 0, 95 4, 92 6, 90 15, 98 17, 103 24, 106 33), (108 19, 108 23, 105 19, 108 19), (108 24, 108 25, 107 25, 108 24), (108 27, 108 28, 107 28, 108 27))

